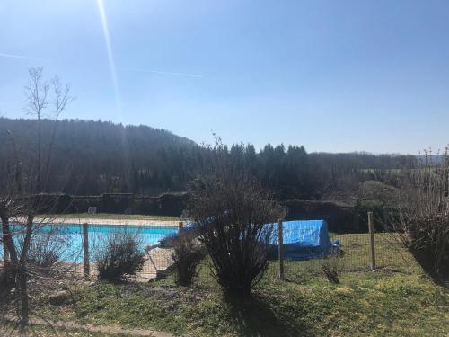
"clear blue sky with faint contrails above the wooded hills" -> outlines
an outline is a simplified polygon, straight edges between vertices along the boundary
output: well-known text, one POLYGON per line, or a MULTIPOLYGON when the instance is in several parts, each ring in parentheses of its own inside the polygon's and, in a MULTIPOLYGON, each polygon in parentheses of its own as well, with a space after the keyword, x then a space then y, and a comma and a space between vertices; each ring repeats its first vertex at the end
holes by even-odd
POLYGON ((102 6, 108 33, 101 1, 0 2, 0 116, 26 117, 27 69, 44 67, 72 85, 66 118, 308 151, 449 143, 448 1, 102 6))

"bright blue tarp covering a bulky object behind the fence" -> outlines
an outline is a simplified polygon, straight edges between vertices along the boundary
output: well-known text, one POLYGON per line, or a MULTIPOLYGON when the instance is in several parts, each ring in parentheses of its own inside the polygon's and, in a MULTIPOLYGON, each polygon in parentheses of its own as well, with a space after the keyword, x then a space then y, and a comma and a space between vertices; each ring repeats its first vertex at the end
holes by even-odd
MULTIPOLYGON (((274 229, 271 244, 277 248, 277 225, 274 229)), ((330 242, 328 224, 324 220, 286 221, 282 230, 286 259, 317 259, 337 250, 330 242)))

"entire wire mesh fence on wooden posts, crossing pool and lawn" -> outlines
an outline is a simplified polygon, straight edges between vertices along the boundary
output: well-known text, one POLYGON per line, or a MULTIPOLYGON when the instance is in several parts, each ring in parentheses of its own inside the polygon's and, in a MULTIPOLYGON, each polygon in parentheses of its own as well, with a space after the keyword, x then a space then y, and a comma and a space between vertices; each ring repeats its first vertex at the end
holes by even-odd
MULTIPOLYGON (((275 229, 277 227, 275 226, 275 229)), ((117 235, 132 235, 136 238, 141 251, 144 253, 142 270, 136 274, 136 279, 146 281, 165 278, 172 266, 173 249, 167 244, 167 235, 176 235, 179 226, 136 226, 136 225, 95 225, 90 224, 52 224, 40 227, 40 234, 46 239, 40 241, 48 244, 47 250, 55 250, 59 258, 72 266, 78 275, 89 274, 95 278, 98 274, 97 260, 108 243, 117 235), (49 237, 52 237, 49 240, 49 237), (51 244, 50 244, 51 243, 51 244)), ((329 233, 330 242, 338 249, 308 259, 290 259, 284 261, 286 279, 295 279, 303 274, 322 274, 323 262, 330 256, 335 256, 339 262, 341 272, 369 271, 372 267, 370 234, 368 227, 362 233, 329 233)), ((1 242, 0 242, 1 244, 1 242)), ((31 247, 32 248, 32 247, 31 247)), ((44 249, 45 250, 45 249, 44 249)), ((0 260, 3 259, 4 249, 0 249, 0 260)), ((408 270, 412 266, 413 258, 407 249, 392 233, 374 233, 375 268, 408 270)), ((212 279, 208 270, 209 263, 205 262, 200 272, 202 279, 212 279)), ((274 256, 270 261, 269 277, 278 276, 279 260, 274 256)), ((84 275, 87 276, 87 275, 84 275)))

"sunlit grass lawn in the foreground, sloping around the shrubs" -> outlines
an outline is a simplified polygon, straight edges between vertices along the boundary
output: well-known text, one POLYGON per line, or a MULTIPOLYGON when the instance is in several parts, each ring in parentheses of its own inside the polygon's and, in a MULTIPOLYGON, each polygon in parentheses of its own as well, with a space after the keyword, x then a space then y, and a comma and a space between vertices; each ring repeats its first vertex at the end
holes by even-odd
POLYGON ((205 265, 194 288, 178 288, 171 277, 145 284, 96 282, 73 288, 71 306, 49 306, 42 296, 36 312, 53 320, 198 337, 449 335, 449 292, 409 253, 378 235, 380 269, 372 272, 366 268, 366 235, 339 238, 345 251, 339 285, 319 273, 316 261, 286 262, 286 280, 280 281, 273 262, 252 297, 230 299, 205 265))

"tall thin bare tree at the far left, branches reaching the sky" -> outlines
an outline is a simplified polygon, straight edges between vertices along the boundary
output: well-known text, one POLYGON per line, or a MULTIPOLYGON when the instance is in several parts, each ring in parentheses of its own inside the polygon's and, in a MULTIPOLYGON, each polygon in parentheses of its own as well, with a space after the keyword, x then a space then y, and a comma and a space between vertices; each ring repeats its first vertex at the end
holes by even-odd
MULTIPOLYGON (((32 252, 32 247, 36 245, 40 228, 48 222, 42 218, 36 219, 36 215, 40 213, 45 200, 40 193, 47 189, 57 119, 72 100, 69 92, 69 87, 66 86, 63 89, 57 77, 51 84, 48 84, 43 79, 42 68, 31 68, 30 83, 25 86, 25 96, 27 99, 26 111, 38 120, 36 156, 34 158, 21 158, 15 135, 9 132, 13 162, 9 165, 8 188, 6 191, 0 192, 0 219, 3 231, 4 270, 7 270, 6 274, 10 275, 13 287, 18 290, 18 315, 22 324, 28 324, 29 321, 28 287, 30 277, 33 275, 31 267, 36 265, 36 256, 34 256, 34 263, 31 263, 33 259, 30 252, 32 252), (52 97, 49 95, 50 91, 53 93, 52 97), (40 121, 48 107, 51 107, 53 111, 55 124, 49 137, 47 161, 45 166, 42 167, 43 151, 40 121), (45 183, 45 186, 43 183, 45 183)), ((45 206, 48 208, 48 205, 45 206)), ((54 262, 51 264, 54 265, 54 262)), ((40 267, 42 266, 40 265, 40 267)))

